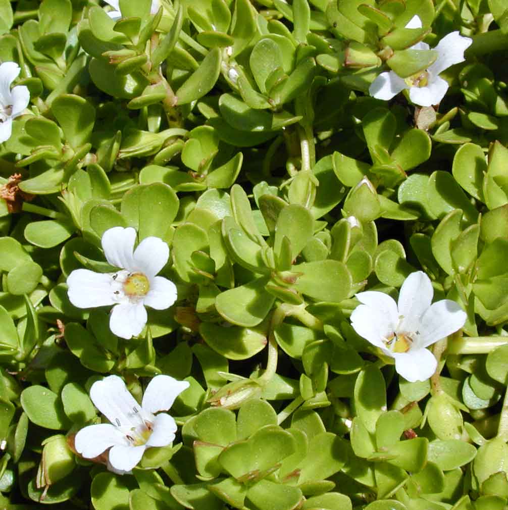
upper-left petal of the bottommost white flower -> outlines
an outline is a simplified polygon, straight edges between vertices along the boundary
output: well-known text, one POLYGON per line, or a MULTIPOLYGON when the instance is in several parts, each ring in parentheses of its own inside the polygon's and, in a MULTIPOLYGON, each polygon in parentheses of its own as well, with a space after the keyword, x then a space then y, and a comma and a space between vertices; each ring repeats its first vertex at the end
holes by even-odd
POLYGON ((113 425, 128 429, 140 425, 141 418, 138 414, 141 406, 118 375, 108 375, 95 381, 90 388, 90 398, 113 425))

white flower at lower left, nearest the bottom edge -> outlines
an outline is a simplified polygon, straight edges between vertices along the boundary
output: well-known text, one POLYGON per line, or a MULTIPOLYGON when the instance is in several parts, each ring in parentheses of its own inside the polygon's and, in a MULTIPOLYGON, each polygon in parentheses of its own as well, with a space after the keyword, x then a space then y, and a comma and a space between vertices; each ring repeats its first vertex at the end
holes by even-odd
POLYGON ((108 467, 122 474, 131 471, 146 448, 167 446, 174 440, 176 423, 166 413, 174 399, 189 387, 169 375, 156 375, 148 384, 141 405, 117 375, 95 381, 90 398, 111 423, 82 428, 74 438, 74 448, 85 458, 94 458, 108 448, 108 467))

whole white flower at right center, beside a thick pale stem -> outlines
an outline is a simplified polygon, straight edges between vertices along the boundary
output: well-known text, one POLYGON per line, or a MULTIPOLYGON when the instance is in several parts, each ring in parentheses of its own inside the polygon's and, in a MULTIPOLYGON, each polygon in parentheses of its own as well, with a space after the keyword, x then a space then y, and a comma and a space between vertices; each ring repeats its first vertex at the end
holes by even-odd
POLYGON ((433 294, 429 277, 416 271, 402 284, 398 303, 384 292, 360 292, 356 296, 363 304, 351 314, 354 330, 394 358, 395 370, 410 382, 428 379, 436 371, 436 358, 425 347, 466 322, 459 304, 450 299, 431 304, 433 294))

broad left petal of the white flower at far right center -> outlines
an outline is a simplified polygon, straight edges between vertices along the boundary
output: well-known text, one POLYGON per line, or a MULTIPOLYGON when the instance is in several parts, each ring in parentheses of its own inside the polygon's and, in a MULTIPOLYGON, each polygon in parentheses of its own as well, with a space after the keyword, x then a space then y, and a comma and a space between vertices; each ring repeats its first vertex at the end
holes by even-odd
POLYGON ((384 292, 367 291, 356 295, 361 304, 351 314, 351 326, 376 347, 385 347, 384 339, 390 338, 398 323, 395 301, 384 292))

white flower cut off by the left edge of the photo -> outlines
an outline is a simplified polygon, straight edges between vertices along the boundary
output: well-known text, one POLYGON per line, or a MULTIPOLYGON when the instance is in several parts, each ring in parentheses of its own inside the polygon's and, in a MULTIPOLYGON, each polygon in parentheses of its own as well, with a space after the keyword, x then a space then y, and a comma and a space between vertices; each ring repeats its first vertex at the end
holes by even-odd
POLYGON ((17 85, 11 90, 11 84, 20 71, 15 62, 0 65, 0 143, 9 140, 12 120, 19 117, 30 102, 30 92, 26 86, 17 85))

